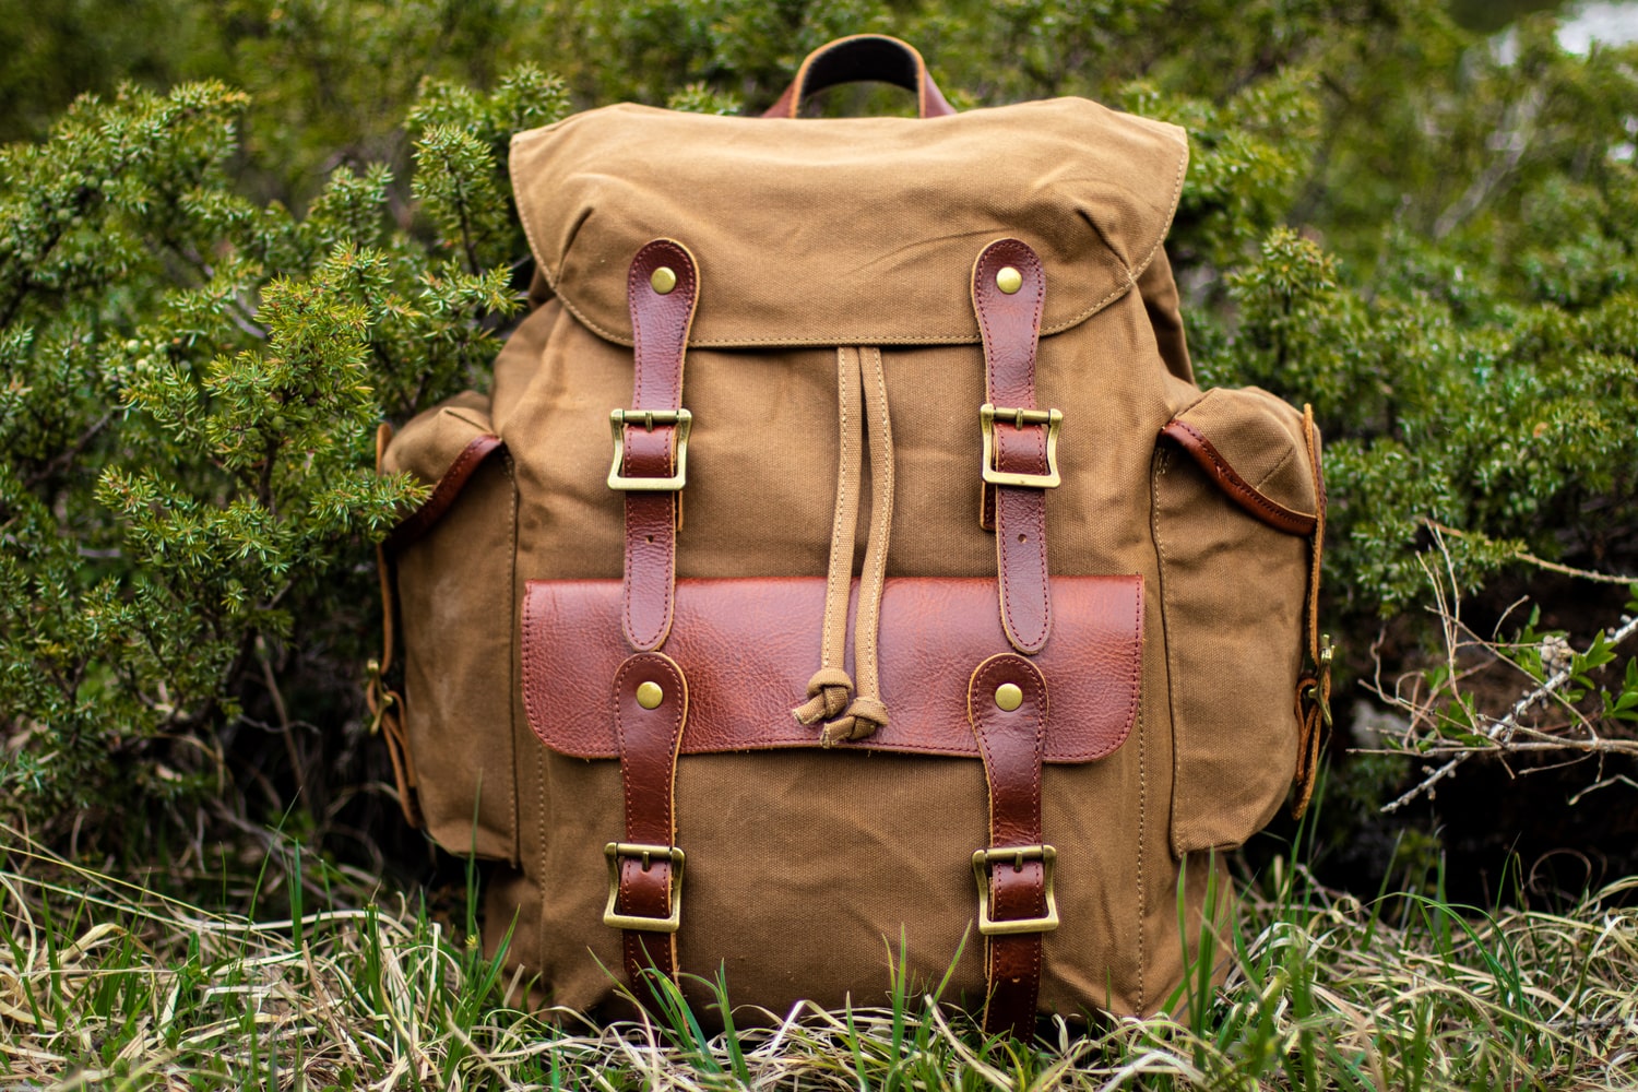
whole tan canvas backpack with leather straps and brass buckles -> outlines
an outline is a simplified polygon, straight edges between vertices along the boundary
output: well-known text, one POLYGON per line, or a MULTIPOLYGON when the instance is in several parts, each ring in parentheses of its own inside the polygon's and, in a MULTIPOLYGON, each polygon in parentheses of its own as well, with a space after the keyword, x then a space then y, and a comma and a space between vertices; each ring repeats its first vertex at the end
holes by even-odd
POLYGON ((1319 437, 1194 383, 1186 162, 881 36, 763 118, 514 138, 531 313, 385 445, 431 498, 372 701, 537 1000, 871 1005, 903 943, 989 1031, 1174 1002, 1328 686, 1319 437), (921 116, 796 116, 855 79, 921 116))

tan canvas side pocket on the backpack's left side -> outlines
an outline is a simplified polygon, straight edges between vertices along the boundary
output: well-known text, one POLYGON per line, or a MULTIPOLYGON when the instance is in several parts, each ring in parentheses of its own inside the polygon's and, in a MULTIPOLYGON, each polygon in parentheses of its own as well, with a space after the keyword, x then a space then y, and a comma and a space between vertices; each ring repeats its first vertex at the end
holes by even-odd
POLYGON ((513 558, 518 493, 488 398, 459 395, 393 437, 383 473, 432 486, 387 539, 403 634, 406 781, 452 853, 516 860, 513 558))

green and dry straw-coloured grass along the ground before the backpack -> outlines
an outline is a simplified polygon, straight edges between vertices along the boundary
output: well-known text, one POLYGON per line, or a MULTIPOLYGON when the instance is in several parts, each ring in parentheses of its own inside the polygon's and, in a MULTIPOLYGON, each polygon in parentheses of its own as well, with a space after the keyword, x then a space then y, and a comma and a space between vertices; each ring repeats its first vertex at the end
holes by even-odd
MULTIPOLYGON (((1278 861, 1219 938, 1227 986, 1178 999, 1194 1030, 1055 1020, 1020 1048, 903 981, 886 1009, 737 1009, 714 1036, 676 999, 654 1022, 554 1023, 503 961, 295 846, 241 902, 283 884, 285 920, 210 914, 8 828, 0 850, 0 1087, 1638 1087, 1638 878, 1563 914, 1486 914, 1335 894, 1278 861), (758 1015, 771 1027, 747 1028, 758 1015)), ((732 987, 714 981, 719 1004, 732 987)))

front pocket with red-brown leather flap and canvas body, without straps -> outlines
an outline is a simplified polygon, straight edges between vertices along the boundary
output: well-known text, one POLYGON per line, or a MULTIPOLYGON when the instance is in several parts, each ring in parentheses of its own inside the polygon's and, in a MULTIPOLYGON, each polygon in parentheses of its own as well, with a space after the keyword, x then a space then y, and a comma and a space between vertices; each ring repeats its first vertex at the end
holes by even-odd
MULTIPOLYGON (((1145 588, 1137 575, 1053 578, 1052 640, 1032 658, 1048 693, 1037 792, 1061 918, 1043 941, 1042 990, 1066 1007, 1132 995, 1140 809, 1127 787, 1140 758, 1122 751, 1135 751, 1125 743, 1142 704, 1145 588)), ((526 869, 542 891, 539 966, 572 1005, 608 997, 606 968, 622 958, 621 930, 603 917, 604 846, 629 817, 631 720, 616 679, 657 653, 632 657, 621 599, 619 580, 532 580, 523 596, 524 704, 547 784, 542 850, 526 869)), ((685 972, 726 968, 731 989, 737 981, 770 1009, 798 997, 840 1007, 881 995, 888 950, 906 953, 912 981, 947 976, 947 999, 983 1002, 973 853, 991 843, 993 802, 968 707, 975 670, 1009 647, 996 601, 994 578, 888 578, 888 720, 826 748, 819 725, 791 715, 819 661, 826 580, 676 581, 663 657, 683 693, 670 799, 686 855, 685 972)), ((665 784, 657 769, 637 774, 649 783, 640 801, 665 784)))

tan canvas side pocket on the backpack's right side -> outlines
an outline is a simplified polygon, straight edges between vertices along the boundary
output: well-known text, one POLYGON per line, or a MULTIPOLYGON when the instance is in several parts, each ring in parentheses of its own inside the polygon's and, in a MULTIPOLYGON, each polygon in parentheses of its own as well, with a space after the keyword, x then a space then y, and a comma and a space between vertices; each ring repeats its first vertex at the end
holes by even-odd
POLYGON ((1261 830, 1297 768, 1304 612, 1324 504, 1309 450, 1304 416, 1256 388, 1207 391, 1155 450, 1178 856, 1261 830))

